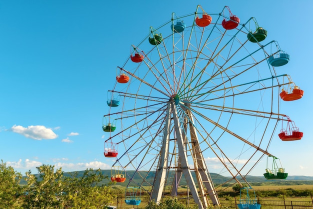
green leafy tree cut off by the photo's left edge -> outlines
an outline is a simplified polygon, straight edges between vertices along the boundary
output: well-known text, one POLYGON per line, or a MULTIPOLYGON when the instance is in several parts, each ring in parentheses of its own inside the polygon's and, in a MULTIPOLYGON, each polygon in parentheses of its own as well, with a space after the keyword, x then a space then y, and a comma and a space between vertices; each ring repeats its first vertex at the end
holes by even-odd
POLYGON ((13 167, 0 163, 0 206, 1 208, 20 208, 21 187, 19 186, 21 173, 13 167))

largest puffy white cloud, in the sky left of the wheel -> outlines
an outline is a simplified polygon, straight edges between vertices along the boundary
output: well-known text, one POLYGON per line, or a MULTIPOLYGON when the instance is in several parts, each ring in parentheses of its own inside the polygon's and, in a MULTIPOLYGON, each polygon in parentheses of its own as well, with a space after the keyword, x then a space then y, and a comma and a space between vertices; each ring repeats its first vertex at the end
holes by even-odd
POLYGON ((55 134, 51 128, 47 128, 43 125, 29 125, 28 127, 13 125, 10 130, 36 140, 54 139, 57 137, 57 134, 55 134))

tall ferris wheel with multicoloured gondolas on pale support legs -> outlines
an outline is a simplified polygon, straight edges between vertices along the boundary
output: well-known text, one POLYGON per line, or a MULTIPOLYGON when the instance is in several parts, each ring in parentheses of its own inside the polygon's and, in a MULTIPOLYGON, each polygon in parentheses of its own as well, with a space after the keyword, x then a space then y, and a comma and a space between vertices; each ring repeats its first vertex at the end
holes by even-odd
POLYGON ((266 35, 253 17, 241 23, 228 6, 207 13, 198 5, 130 46, 103 116, 104 155, 127 187, 159 202, 187 184, 205 208, 219 205, 216 190, 248 184, 261 158, 274 156, 269 145, 285 116, 279 93, 295 85, 281 72, 289 54, 266 35))

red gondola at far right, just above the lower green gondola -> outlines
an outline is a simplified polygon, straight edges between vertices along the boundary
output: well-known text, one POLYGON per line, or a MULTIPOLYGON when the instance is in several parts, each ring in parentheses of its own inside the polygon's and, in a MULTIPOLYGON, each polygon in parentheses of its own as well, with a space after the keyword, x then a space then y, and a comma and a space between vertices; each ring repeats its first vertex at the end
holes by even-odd
POLYGON ((287 118, 287 126, 285 129, 281 128, 280 133, 278 134, 279 138, 283 141, 293 141, 301 139, 303 136, 303 132, 299 131, 299 128, 295 126, 294 122, 287 115, 285 115, 284 117, 287 118))

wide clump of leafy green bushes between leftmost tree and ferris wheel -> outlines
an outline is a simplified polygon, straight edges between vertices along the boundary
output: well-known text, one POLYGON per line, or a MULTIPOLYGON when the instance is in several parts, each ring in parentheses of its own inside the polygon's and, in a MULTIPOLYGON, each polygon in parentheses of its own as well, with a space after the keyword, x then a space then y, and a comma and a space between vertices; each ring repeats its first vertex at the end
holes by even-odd
POLYGON ((99 184, 105 178, 100 170, 90 168, 82 176, 74 172, 64 177, 61 168, 54 172, 52 165, 37 169, 38 177, 26 173, 24 208, 103 208, 114 197, 108 186, 99 184))

